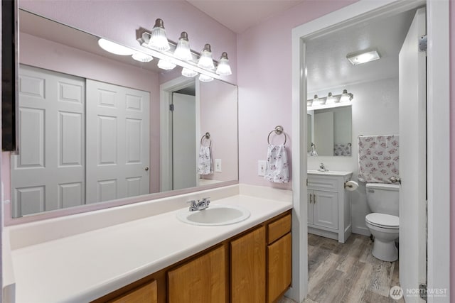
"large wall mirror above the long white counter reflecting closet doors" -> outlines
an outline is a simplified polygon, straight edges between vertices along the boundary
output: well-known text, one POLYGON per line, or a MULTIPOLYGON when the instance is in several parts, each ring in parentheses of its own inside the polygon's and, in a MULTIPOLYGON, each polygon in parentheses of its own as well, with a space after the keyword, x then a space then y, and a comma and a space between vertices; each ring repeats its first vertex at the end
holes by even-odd
POLYGON ((13 217, 238 182, 235 85, 107 53, 27 11, 18 28, 13 217))

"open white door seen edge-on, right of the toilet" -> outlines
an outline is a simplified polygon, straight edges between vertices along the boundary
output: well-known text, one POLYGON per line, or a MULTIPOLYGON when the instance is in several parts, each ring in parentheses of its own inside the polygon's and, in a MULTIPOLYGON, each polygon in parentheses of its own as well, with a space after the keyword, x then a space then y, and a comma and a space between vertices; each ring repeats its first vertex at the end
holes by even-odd
MULTIPOLYGON (((415 290, 426 282, 426 54, 425 9, 419 9, 400 50, 400 285, 415 290)), ((419 297, 405 297, 419 302, 419 297)))

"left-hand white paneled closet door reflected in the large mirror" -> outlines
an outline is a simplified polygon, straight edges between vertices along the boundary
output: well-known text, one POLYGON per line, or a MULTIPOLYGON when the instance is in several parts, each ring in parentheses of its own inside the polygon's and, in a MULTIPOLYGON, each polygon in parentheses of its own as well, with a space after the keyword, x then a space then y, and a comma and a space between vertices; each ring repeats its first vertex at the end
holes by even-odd
POLYGON ((85 80, 21 65, 18 87, 20 150, 11 155, 14 216, 83 204, 85 80))

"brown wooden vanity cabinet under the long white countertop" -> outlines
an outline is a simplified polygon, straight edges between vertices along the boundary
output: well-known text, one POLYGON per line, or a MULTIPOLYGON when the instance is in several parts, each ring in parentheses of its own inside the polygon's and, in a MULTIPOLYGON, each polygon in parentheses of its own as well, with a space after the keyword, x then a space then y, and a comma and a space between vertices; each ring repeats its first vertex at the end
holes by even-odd
POLYGON ((291 211, 95 303, 277 302, 291 285, 291 211))

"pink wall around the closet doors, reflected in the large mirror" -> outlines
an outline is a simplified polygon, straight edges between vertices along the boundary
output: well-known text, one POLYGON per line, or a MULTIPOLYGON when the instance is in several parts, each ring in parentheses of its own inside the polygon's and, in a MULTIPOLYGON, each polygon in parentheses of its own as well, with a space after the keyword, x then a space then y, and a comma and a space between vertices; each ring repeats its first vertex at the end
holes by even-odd
POLYGON ((159 75, 26 33, 19 45, 21 64, 150 92, 150 192, 159 192, 159 75))

